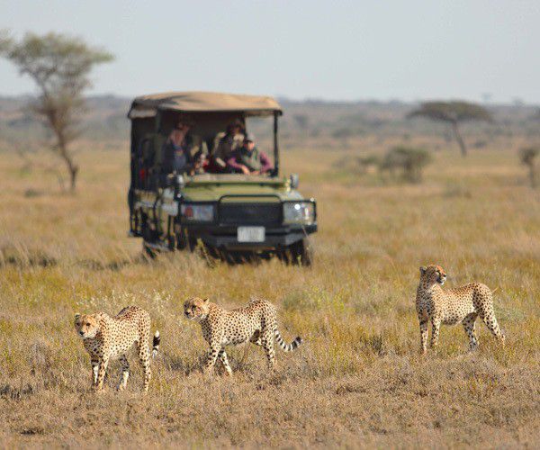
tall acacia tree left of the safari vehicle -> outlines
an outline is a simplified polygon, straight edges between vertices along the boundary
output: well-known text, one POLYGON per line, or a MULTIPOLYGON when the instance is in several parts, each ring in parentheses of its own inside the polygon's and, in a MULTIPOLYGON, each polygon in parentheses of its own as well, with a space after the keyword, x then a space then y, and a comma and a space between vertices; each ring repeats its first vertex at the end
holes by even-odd
POLYGON ((89 47, 84 40, 50 32, 43 36, 27 33, 15 41, 4 32, 0 36, 0 56, 13 62, 19 74, 30 76, 38 95, 30 103, 31 112, 52 135, 49 148, 66 165, 71 191, 76 187, 79 167, 70 144, 80 130, 80 113, 85 107, 83 93, 90 87, 90 72, 112 55, 89 47))

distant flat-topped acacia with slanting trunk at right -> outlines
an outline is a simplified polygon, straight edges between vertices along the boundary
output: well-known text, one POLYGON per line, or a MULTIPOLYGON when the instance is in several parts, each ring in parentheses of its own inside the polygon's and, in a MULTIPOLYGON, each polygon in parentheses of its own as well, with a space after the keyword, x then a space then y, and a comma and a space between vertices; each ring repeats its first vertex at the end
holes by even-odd
POLYGON ((491 113, 479 104, 468 102, 427 102, 408 114, 408 117, 425 117, 431 121, 443 121, 452 126, 455 140, 462 156, 467 156, 467 147, 458 125, 464 121, 493 121, 491 113))

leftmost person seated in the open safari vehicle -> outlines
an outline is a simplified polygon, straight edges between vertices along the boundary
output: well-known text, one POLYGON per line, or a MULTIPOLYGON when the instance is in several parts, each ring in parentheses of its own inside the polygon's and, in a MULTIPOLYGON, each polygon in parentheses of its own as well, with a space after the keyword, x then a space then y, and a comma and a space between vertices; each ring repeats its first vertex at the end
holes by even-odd
POLYGON ((187 123, 178 123, 163 146, 164 169, 167 174, 193 171, 193 139, 188 134, 189 129, 187 123))

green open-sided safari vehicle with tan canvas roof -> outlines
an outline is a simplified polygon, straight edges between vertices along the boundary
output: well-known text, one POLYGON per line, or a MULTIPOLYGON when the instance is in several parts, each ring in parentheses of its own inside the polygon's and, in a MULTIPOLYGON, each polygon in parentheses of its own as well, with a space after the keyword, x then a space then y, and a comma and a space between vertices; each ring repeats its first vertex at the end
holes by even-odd
POLYGON ((230 263, 277 256, 287 264, 311 265, 316 202, 297 191, 297 175, 280 176, 282 113, 267 96, 184 92, 135 98, 128 114, 130 236, 142 238, 150 255, 200 248, 230 263), (229 123, 240 121, 246 130, 253 118, 264 117, 273 125, 270 173, 166 173, 163 148, 176 123, 190 123, 194 147, 211 157, 216 136, 229 123))

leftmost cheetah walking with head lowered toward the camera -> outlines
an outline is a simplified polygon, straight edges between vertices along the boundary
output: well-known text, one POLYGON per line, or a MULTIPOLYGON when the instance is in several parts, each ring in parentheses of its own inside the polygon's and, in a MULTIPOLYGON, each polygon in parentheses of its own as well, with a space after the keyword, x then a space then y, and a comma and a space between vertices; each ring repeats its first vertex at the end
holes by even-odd
MULTIPOLYGON (((103 379, 109 364, 109 359, 118 357, 121 363, 121 379, 118 390, 125 389, 130 376, 130 364, 126 353, 137 345, 139 362, 144 372, 143 392, 148 392, 151 371, 148 352, 150 335, 150 315, 139 306, 128 306, 115 317, 105 312, 95 314, 75 315, 75 329, 83 339, 86 351, 90 354, 92 364, 92 388, 95 391, 103 389, 103 379)), ((153 339, 152 356, 159 349, 159 331, 153 339)))

